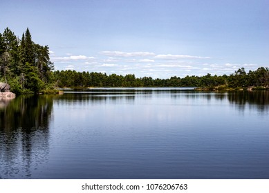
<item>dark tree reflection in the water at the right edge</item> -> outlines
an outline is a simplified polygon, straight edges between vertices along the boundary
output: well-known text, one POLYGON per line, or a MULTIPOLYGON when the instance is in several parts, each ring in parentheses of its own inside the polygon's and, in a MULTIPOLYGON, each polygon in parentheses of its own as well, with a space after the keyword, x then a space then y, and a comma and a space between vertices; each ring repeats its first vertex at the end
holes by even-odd
POLYGON ((250 107, 257 108, 260 112, 264 112, 269 108, 269 91, 228 92, 228 100, 230 103, 238 105, 240 110, 244 110, 245 105, 250 105, 250 107))

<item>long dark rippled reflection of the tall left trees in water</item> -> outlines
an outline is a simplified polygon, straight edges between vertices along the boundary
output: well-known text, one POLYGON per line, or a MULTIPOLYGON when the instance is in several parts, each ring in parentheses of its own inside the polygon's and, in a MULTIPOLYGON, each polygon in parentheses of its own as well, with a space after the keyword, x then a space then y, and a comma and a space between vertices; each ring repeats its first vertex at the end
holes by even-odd
POLYGON ((46 161, 52 96, 19 96, 0 108, 0 179, 31 178, 46 161))

